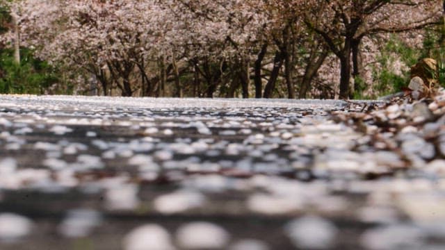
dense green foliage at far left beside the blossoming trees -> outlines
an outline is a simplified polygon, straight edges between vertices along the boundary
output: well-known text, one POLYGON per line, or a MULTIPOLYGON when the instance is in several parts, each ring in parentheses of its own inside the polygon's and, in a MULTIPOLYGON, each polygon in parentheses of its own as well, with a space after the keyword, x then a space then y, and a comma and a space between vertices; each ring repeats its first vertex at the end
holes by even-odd
POLYGON ((0 93, 44 94, 45 90, 58 82, 58 76, 48 63, 33 57, 29 49, 22 49, 22 61, 17 65, 13 50, 0 53, 0 93))

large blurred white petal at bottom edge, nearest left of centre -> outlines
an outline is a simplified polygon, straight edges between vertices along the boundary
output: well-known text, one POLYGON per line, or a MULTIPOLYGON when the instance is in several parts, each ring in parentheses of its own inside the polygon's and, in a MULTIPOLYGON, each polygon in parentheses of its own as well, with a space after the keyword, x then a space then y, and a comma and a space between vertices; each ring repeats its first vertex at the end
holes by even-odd
POLYGON ((184 249, 224 249, 230 235, 224 228, 209 222, 192 222, 179 227, 177 242, 184 249))

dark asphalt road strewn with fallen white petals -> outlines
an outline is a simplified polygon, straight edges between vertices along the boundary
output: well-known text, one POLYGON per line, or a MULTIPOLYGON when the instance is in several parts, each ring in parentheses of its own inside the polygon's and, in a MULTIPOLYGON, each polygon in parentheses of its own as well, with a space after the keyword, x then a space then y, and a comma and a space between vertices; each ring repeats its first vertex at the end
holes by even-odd
POLYGON ((444 249, 443 176, 345 109, 0 95, 0 249, 444 249))

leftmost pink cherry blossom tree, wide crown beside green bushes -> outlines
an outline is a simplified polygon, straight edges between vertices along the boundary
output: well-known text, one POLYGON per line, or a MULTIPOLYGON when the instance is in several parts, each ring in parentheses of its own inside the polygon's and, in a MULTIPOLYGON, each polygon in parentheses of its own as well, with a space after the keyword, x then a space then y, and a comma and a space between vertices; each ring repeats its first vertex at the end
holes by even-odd
POLYGON ((92 74, 104 94, 113 83, 131 96, 140 88, 133 73, 161 51, 165 15, 154 1, 28 0, 15 8, 26 44, 42 58, 92 74))

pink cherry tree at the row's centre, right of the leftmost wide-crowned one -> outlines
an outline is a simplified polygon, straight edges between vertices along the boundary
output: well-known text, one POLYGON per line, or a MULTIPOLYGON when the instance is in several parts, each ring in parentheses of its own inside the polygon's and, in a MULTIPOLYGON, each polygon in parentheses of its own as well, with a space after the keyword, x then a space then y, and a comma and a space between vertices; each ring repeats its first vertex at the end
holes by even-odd
POLYGON ((218 86, 227 89, 227 97, 233 97, 239 85, 243 97, 249 96, 251 55, 257 50, 259 30, 266 20, 257 11, 259 6, 251 3, 172 1, 174 13, 181 13, 175 17, 182 27, 175 31, 187 31, 180 36, 183 40, 179 44, 188 48, 193 71, 204 78, 207 97, 212 97, 218 86))

